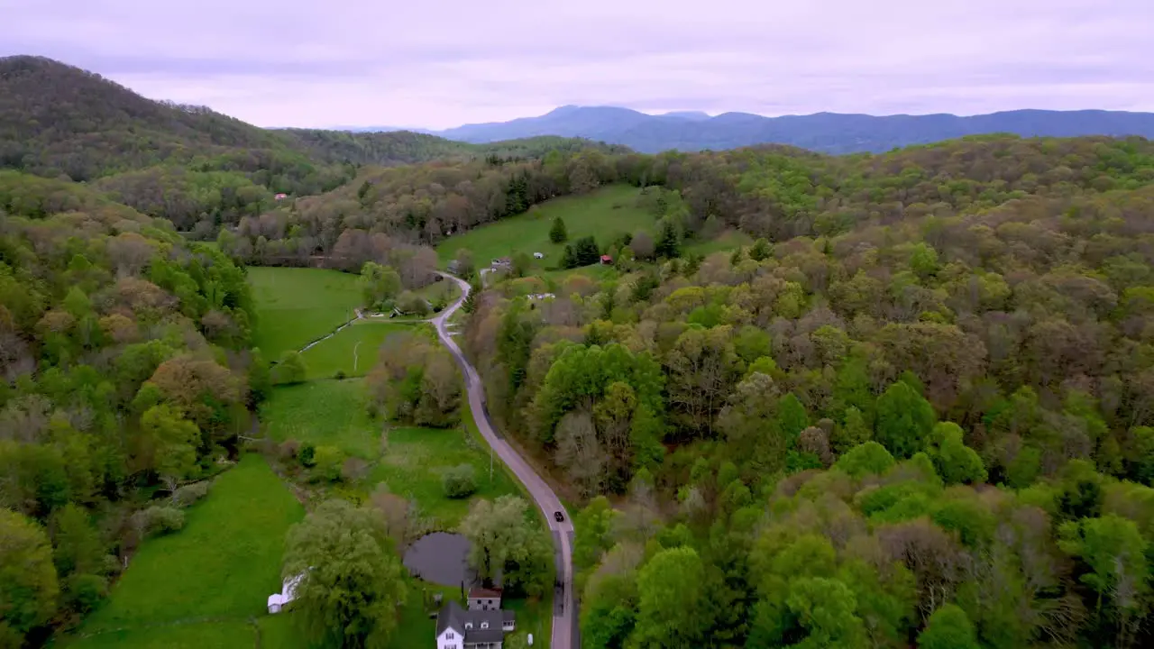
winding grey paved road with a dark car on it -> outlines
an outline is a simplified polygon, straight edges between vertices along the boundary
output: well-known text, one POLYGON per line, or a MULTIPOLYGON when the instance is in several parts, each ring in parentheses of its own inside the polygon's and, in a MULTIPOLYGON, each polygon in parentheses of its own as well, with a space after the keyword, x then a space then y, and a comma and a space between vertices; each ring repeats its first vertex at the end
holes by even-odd
POLYGON ((577 649, 577 619, 574 616, 572 592, 572 522, 570 522, 569 513, 561 505, 561 499, 557 498, 557 494, 553 493, 549 485, 533 471, 532 467, 520 455, 517 455, 517 452, 504 441, 501 433, 489 422, 481 378, 478 375, 477 370, 465 359, 465 355, 462 353, 460 348, 450 337, 448 329, 449 318, 460 308, 465 298, 469 297, 469 282, 445 273, 440 273, 439 275, 445 279, 456 282, 460 286, 460 298, 452 306, 439 313, 430 322, 436 327, 436 334, 441 337, 441 342, 444 343, 444 346, 449 348, 449 351, 452 352, 452 356, 457 359, 457 364, 460 365, 462 371, 465 373, 465 389, 469 391, 469 405, 473 410, 473 420, 477 422, 477 428, 481 431, 485 441, 489 442, 489 446, 493 447, 497 456, 501 457, 505 465, 517 476, 517 479, 529 490, 537 506, 545 514, 545 520, 548 521, 549 530, 553 532, 553 544, 556 546, 554 559, 557 568, 559 587, 554 591, 553 597, 553 636, 549 646, 552 649, 577 649), (564 512, 565 520, 559 523, 553 517, 554 512, 564 512))

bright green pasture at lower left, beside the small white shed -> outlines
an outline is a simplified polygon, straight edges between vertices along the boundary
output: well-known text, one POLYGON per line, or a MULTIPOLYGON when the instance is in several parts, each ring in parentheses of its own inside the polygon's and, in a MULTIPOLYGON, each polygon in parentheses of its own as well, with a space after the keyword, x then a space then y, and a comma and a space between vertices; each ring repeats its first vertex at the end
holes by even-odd
POLYGON ((246 620, 279 590, 285 534, 304 515, 264 458, 246 455, 182 530, 141 546, 70 646, 252 647, 246 620))

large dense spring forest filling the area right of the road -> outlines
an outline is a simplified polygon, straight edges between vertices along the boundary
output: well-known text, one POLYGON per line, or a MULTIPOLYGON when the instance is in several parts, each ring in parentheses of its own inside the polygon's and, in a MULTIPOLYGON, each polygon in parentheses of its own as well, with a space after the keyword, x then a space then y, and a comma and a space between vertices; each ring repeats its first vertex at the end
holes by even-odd
POLYGON ((1152 641, 1154 146, 601 173, 662 185, 622 274, 511 277, 466 330, 493 416, 595 498, 586 647, 1152 641), (758 239, 680 254, 719 227, 758 239))

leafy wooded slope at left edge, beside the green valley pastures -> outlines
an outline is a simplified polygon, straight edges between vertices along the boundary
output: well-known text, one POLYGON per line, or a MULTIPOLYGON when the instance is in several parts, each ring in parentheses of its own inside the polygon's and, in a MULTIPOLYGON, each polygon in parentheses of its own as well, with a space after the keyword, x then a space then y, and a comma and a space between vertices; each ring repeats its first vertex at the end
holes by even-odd
POLYGON ((76 184, 0 185, 0 643, 20 647, 180 528, 264 366, 225 255, 76 184))

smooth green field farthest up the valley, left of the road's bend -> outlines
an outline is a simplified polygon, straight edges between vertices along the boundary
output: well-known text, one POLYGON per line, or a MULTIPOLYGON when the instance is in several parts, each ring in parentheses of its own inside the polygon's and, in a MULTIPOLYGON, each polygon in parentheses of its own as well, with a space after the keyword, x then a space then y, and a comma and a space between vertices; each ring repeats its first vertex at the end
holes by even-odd
POLYGON ((357 275, 321 268, 248 268, 257 322, 253 344, 276 360, 331 333, 355 316, 357 275))

